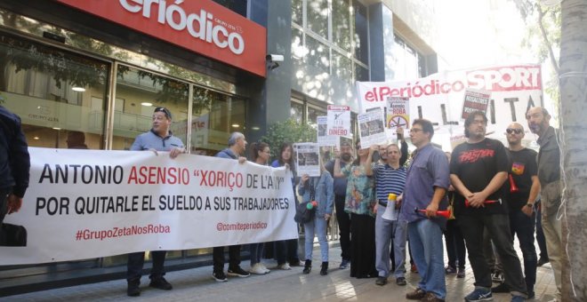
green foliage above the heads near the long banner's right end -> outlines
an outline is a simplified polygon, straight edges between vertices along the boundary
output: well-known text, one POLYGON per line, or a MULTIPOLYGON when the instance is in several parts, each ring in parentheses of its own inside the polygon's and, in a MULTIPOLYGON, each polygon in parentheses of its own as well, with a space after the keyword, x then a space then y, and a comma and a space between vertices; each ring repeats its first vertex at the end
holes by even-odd
POLYGON ((269 126, 267 134, 261 138, 271 147, 271 156, 277 158, 279 147, 284 142, 312 142, 316 140, 316 129, 308 123, 300 123, 293 118, 269 126))

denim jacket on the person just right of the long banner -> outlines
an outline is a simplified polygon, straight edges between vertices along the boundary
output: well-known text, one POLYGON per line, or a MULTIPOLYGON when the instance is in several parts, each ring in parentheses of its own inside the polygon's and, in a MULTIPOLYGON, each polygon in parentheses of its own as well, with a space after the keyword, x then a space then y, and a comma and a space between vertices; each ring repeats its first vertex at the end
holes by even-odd
POLYGON ((316 215, 324 217, 325 214, 333 214, 334 204, 334 179, 328 171, 323 171, 320 177, 310 177, 305 184, 300 183, 298 194, 302 195, 303 202, 310 202, 310 186, 315 187, 314 200, 318 202, 316 215))

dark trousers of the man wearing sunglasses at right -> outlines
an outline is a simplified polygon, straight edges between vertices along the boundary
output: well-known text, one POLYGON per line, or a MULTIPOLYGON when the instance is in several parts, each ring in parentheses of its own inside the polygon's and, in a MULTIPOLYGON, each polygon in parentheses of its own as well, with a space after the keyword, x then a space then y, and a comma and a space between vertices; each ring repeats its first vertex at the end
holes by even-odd
POLYGON ((535 216, 535 212, 532 213, 532 217, 527 217, 520 210, 510 211, 511 238, 513 239, 514 234, 518 234, 519 249, 522 250, 524 258, 524 276, 528 292, 534 291, 536 264, 538 263, 534 245, 535 216))

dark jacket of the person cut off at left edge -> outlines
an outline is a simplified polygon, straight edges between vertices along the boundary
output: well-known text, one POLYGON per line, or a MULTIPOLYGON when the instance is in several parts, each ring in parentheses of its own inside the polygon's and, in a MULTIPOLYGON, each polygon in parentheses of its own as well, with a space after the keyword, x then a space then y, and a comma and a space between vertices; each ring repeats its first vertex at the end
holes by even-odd
POLYGON ((0 188, 24 196, 28 187, 30 156, 20 117, 0 106, 0 188))

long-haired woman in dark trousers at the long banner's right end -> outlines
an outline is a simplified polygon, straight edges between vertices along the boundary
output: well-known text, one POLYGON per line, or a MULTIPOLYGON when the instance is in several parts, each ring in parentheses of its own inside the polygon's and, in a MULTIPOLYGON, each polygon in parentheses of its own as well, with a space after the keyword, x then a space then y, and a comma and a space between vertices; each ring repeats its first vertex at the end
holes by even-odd
MULTIPOLYGON (((294 187, 295 199, 295 164, 294 164, 294 147, 290 143, 283 143, 279 147, 277 160, 271 163, 271 167, 277 168, 287 166, 292 171, 292 187, 294 187)), ((295 204, 297 205, 297 199, 295 204)), ((290 266, 300 266, 300 257, 298 256, 298 239, 289 239, 275 242, 275 258, 277 258, 278 269, 292 269, 290 266), (289 264, 288 264, 289 262, 289 264)))

